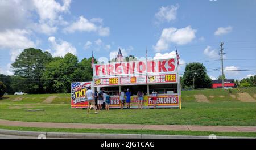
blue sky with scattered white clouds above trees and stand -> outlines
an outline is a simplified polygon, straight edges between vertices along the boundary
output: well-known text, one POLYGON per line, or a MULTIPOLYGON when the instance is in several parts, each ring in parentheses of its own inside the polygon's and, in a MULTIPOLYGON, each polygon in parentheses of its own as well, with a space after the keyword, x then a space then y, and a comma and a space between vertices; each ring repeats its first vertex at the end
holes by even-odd
MULTIPOLYGON (((27 47, 81 60, 92 50, 96 58, 119 48, 144 57, 147 47, 155 57, 177 46, 181 63, 202 62, 214 79, 221 41, 227 70, 256 70, 255 16, 256 1, 0 1, 0 73, 11 75, 10 64, 27 47)), ((229 79, 255 74, 225 71, 229 79)))

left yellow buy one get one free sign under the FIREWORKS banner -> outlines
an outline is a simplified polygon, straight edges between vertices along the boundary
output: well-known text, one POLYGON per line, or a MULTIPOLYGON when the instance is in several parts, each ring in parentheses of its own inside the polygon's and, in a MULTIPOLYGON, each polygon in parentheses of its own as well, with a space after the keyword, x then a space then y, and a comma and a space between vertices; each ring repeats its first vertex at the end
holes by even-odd
POLYGON ((118 77, 112 77, 112 78, 94 78, 94 86, 108 86, 108 85, 118 85, 119 84, 119 78, 118 77))

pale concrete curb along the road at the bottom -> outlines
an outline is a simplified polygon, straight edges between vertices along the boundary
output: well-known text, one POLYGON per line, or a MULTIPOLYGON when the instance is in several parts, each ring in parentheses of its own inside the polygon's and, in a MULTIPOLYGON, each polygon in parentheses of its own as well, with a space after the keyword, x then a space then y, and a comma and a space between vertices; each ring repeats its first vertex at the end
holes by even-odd
MULTIPOLYGON (((154 135, 154 134, 94 134, 94 133, 68 133, 68 132, 35 132, 0 129, 0 134, 30 136, 46 135, 46 138, 68 139, 208 139, 209 136, 192 135, 154 135)), ((256 137, 217 136, 217 139, 256 139, 256 137)))

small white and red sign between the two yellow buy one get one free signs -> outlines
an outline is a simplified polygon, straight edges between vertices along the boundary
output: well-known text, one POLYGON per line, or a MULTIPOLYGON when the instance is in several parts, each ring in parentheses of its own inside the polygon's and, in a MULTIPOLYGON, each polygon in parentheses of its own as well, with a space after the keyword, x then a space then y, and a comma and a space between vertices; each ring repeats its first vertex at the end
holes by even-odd
POLYGON ((120 77, 120 83, 122 85, 125 85, 125 84, 146 84, 147 83, 147 77, 146 76, 120 77))

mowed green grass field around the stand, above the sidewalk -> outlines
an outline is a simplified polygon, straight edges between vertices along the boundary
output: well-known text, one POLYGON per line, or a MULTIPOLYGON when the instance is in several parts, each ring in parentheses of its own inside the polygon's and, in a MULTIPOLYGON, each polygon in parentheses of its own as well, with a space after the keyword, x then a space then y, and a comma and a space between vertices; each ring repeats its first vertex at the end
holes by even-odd
MULTIPOLYGON (((241 91, 254 97, 256 88, 241 91)), ((238 95, 237 89, 232 89, 231 93, 222 89, 182 91, 181 109, 112 109, 90 115, 86 115, 86 110, 70 108, 70 94, 7 95, 0 100, 0 119, 31 122, 256 126, 256 102, 242 102, 238 95), (195 95, 204 95, 209 102, 197 102, 195 95), (46 100, 49 103, 45 103, 46 100), (44 111, 27 112, 26 109, 44 111)))

